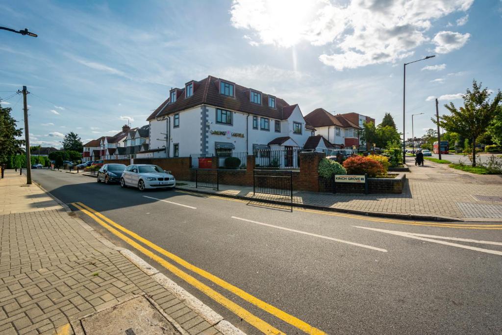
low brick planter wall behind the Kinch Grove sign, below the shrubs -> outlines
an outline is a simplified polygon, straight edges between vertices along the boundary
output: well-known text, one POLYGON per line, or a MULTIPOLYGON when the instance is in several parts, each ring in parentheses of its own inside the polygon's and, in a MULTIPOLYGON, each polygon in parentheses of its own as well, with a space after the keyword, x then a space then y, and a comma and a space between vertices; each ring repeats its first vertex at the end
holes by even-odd
MULTIPOLYGON (((406 184, 406 174, 397 173, 395 178, 368 178, 368 191, 373 194, 401 194, 406 184)), ((364 184, 334 183, 319 178, 319 192, 364 193, 364 184)))

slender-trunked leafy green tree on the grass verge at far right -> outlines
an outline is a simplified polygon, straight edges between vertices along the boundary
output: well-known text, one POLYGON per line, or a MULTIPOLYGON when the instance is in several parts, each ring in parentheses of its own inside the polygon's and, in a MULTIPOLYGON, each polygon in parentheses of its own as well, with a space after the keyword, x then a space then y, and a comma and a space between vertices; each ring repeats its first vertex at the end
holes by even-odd
POLYGON ((476 139, 483 134, 492 120, 496 117, 502 101, 502 92, 498 90, 493 100, 490 100, 488 88, 481 88, 481 83, 472 80, 472 90, 467 88, 464 99, 464 106, 455 107, 453 102, 445 104, 451 115, 439 117, 439 122, 431 119, 439 127, 448 132, 463 134, 472 141, 472 166, 476 166, 476 139))

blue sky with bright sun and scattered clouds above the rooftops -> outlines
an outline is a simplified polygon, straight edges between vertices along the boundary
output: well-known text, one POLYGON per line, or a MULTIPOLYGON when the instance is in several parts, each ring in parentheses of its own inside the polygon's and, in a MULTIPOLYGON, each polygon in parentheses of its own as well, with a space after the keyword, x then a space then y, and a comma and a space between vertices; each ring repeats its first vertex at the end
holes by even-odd
MULTIPOLYGON (((146 118, 192 79, 208 75, 298 103, 386 112, 406 137, 434 128, 435 98, 461 105, 472 80, 502 88, 502 0, 4 0, 0 97, 28 87, 32 145, 85 142, 146 118)), ((22 97, 2 101, 22 127, 22 97)))

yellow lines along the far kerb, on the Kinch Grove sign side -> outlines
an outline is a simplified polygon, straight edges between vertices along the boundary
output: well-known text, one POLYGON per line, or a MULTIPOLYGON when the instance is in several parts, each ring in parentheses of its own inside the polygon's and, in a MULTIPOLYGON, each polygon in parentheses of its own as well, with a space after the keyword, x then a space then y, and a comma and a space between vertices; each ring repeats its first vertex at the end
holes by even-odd
MULTIPOLYGON (((207 197, 207 198, 227 200, 227 201, 237 201, 237 202, 245 202, 245 203, 249 202, 249 200, 234 199, 234 198, 228 198, 228 197, 224 197, 224 196, 211 195, 211 194, 202 195, 201 193, 195 193, 195 192, 190 192, 190 191, 177 190, 176 192, 185 193, 185 194, 192 194, 192 195, 197 195, 197 196, 203 196, 203 197, 207 197)), ((258 199, 258 201, 259 201, 259 199, 258 199)), ((408 220, 400 220, 400 219, 367 217, 367 216, 362 216, 362 215, 357 215, 357 214, 330 212, 330 211, 307 209, 307 208, 301 208, 301 207, 294 207, 293 210, 309 212, 309 213, 316 213, 316 214, 321 214, 321 215, 349 217, 349 218, 355 218, 355 219, 360 219, 360 220, 365 220, 365 221, 373 221, 373 222, 395 224, 395 225, 427 226, 427 227, 458 228, 458 229, 492 229, 492 230, 501 230, 502 229, 502 225, 474 225, 474 224, 454 224, 454 223, 444 223, 443 224, 440 222, 408 221, 408 220)))

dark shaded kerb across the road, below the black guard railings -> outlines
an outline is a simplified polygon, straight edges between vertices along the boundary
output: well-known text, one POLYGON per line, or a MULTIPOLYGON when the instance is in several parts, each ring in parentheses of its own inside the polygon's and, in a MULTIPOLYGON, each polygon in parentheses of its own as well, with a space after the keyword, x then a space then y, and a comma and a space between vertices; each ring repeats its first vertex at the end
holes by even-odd
MULTIPOLYGON (((243 195, 232 195, 232 194, 224 194, 224 193, 212 193, 212 192, 207 192, 207 191, 201 191, 201 190, 198 190, 198 189, 194 190, 194 189, 182 188, 182 187, 178 187, 178 186, 176 186, 175 189, 178 189, 180 191, 188 191, 188 192, 194 192, 194 193, 200 193, 200 194, 206 194, 206 195, 214 195, 214 196, 221 196, 221 197, 234 198, 234 199, 240 199, 240 200, 260 201, 260 202, 273 203, 273 204, 279 204, 279 205, 284 205, 284 204, 291 205, 291 203, 284 202, 284 201, 271 200, 271 199, 261 199, 261 198, 257 199, 257 198, 252 198, 252 197, 248 197, 248 196, 243 196, 243 195)), ((385 218, 396 218, 396 219, 408 219, 408 220, 416 220, 416 221, 465 222, 461 218, 449 217, 449 216, 440 216, 440 215, 379 213, 379 212, 362 211, 362 210, 357 210, 357 209, 343 209, 343 208, 334 208, 334 207, 324 207, 324 206, 304 204, 304 203, 293 203, 292 206, 293 207, 300 207, 300 208, 309 208, 309 209, 323 210, 323 211, 331 211, 331 212, 356 214, 356 215, 361 215, 361 216, 374 216, 374 217, 385 217, 385 218)))

